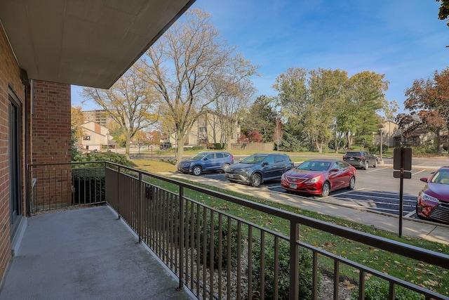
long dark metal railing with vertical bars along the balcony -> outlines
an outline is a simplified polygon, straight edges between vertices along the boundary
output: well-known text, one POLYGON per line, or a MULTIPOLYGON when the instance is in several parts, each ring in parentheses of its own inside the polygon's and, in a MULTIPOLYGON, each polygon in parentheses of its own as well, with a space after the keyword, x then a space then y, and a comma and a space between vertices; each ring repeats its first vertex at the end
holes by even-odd
MULTIPOLYGON (((304 243, 300 240, 299 228, 307 226, 320 233, 344 237, 350 240, 348 249, 360 242, 445 270, 449 269, 448 255, 118 164, 102 162, 102 166, 98 173, 102 179, 85 179, 83 183, 104 187, 104 190, 91 192, 89 195, 94 195, 95 200, 83 201, 83 204, 105 199, 119 218, 137 233, 139 242, 145 242, 179 278, 178 287, 187 287, 199 299, 317 299, 323 268, 335 279, 333 299, 339 299, 338 278, 342 268, 351 268, 357 274, 354 284, 358 286, 358 299, 365 299, 368 277, 387 282, 388 299, 394 299, 398 287, 425 299, 449 299, 304 243), (205 197, 209 204, 203 201, 205 197), (241 206, 242 215, 228 214, 228 202, 241 206), (257 211, 288 222, 288 235, 246 220, 246 211, 257 211)), ((39 180, 36 178, 36 184, 39 180)), ((37 198, 40 197, 38 193, 37 198)), ((76 204, 73 199, 72 196, 72 203, 76 204)))

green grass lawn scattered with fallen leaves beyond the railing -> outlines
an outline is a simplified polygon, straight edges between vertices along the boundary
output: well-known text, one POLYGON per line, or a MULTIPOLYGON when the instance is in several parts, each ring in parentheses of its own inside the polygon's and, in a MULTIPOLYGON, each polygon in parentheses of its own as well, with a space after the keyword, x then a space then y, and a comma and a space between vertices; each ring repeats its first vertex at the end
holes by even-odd
MULTIPOLYGON (((301 155, 303 155, 303 153, 301 153, 301 155)), ((313 155, 316 155, 316 153, 314 153, 313 155)), ((175 162, 170 160, 133 159, 133 162, 138 165, 138 169, 142 169, 152 173, 176 171, 175 162)), ((160 182, 156 181, 152 183, 155 185, 161 185, 160 182)), ((195 183, 195 185, 198 185, 198 183, 195 183)), ((174 192, 177 191, 177 187, 174 185, 170 186, 164 184, 163 188, 173 190, 174 192)), ((431 242, 429 240, 414 237, 403 236, 400 238, 397 236, 397 233, 378 230, 373 228, 372 226, 365 226, 363 224, 354 223, 344 219, 338 219, 333 216, 325 216, 297 207, 289 207, 284 204, 269 202, 248 195, 241 195, 229 190, 220 190, 209 185, 204 185, 204 188, 217 190, 222 193, 228 193, 230 195, 235 195, 236 197, 241 197, 246 200, 270 205, 272 207, 277 207, 286 211, 291 211, 295 214, 309 216, 314 219, 327 221, 329 223, 335 223, 339 226, 352 228, 364 233, 370 233, 380 237, 388 238, 390 240, 397 240, 416 247, 421 247, 423 249, 429 249, 435 252, 449 255, 449 245, 446 244, 431 242)), ((211 199, 208 196, 205 196, 201 193, 196 193, 192 190, 186 191, 186 195, 187 197, 199 202, 203 202, 210 207, 222 209, 228 214, 238 216, 241 219, 246 219, 247 221, 256 223, 260 226, 264 226, 265 228, 269 228, 270 230, 275 230, 276 232, 283 233, 284 235, 288 235, 289 233, 289 223, 288 221, 285 221, 283 219, 277 219, 274 216, 261 214, 259 211, 252 211, 251 209, 247 209, 246 207, 241 207, 240 205, 232 204, 224 200, 211 199)), ((374 268, 375 270, 380 270, 381 272, 388 273, 389 275, 393 275, 396 278, 421 285, 428 289, 433 289, 434 291, 446 296, 449 295, 449 270, 438 268, 428 263, 422 263, 421 261, 414 261, 412 259, 403 258, 402 256, 396 256, 384 250, 375 249, 365 244, 360 244, 342 237, 323 233, 314 228, 307 228, 306 226, 300 227, 300 240, 302 242, 306 242, 307 244, 314 245, 315 247, 326 249, 328 252, 343 256, 347 259, 350 259, 351 261, 356 261, 358 263, 362 263, 365 266, 369 266, 370 268, 374 268)), ((330 259, 322 259, 321 263, 322 267, 325 269, 327 268, 328 270, 331 270, 333 268, 333 261, 330 261, 330 259)), ((358 280, 358 273, 356 273, 356 271, 351 268, 342 266, 340 272, 351 280, 358 280)))

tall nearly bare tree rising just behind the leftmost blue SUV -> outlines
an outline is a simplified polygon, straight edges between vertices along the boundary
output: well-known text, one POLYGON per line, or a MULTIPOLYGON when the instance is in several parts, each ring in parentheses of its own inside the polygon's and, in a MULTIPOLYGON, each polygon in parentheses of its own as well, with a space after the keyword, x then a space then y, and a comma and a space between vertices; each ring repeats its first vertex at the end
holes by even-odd
POLYGON ((194 123, 229 86, 251 77, 256 67, 228 46, 210 15, 194 9, 185 13, 147 51, 147 81, 160 94, 164 116, 173 125, 177 159, 194 123))

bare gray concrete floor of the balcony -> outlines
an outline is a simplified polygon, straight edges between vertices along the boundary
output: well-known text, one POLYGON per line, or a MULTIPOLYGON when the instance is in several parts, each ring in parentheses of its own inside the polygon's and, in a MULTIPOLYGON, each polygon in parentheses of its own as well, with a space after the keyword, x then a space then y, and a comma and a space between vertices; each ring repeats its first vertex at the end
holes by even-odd
POLYGON ((192 299, 106 206, 27 219, 0 299, 192 299))

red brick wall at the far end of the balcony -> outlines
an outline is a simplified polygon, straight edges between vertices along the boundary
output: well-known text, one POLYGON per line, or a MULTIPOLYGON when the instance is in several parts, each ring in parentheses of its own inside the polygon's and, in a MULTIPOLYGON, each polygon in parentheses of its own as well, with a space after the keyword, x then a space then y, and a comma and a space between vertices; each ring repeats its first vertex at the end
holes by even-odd
MULTIPOLYGON (((33 80, 33 115, 31 117, 32 164, 70 162, 70 85, 51 81, 33 80)), ((36 199, 36 207, 65 206, 72 201, 71 175, 60 177, 67 165, 47 168, 36 181, 42 190, 36 199), (61 182, 64 181, 64 182, 61 182)))

